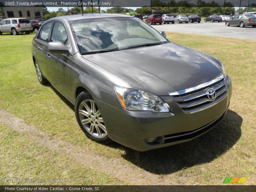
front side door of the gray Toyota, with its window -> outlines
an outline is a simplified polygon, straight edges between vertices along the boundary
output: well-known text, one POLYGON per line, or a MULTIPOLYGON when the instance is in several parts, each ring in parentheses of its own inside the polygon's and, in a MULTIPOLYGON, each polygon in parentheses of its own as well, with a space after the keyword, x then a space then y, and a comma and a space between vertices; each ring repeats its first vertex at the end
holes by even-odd
MULTIPOLYGON (((54 22, 50 41, 60 42, 70 46, 68 33, 62 22, 54 22)), ((72 55, 47 52, 47 69, 51 83, 59 92, 70 99, 72 98, 70 81, 71 66, 72 55)))

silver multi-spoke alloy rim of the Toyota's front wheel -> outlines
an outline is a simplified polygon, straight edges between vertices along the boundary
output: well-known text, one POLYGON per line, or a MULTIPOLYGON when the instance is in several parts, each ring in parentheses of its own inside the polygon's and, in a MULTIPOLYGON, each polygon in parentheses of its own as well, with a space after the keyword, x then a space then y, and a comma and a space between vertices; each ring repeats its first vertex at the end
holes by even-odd
POLYGON ((108 135, 100 110, 94 100, 84 100, 79 105, 79 119, 84 129, 96 138, 108 135))

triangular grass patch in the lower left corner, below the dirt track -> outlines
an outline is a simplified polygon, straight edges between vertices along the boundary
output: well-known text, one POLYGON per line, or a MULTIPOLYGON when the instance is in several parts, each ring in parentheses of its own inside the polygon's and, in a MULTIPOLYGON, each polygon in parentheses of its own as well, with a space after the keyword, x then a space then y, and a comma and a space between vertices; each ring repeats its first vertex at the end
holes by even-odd
MULTIPOLYGON (((0 124, 0 185, 4 178, 44 179, 44 185, 117 185, 118 179, 107 174, 86 168, 65 154, 57 154, 36 143, 30 142, 26 135, 12 131, 0 124), (46 182, 59 179, 61 182, 46 182)), ((23 184, 28 183, 14 183, 23 184)), ((33 183, 32 183, 33 184, 33 183)))

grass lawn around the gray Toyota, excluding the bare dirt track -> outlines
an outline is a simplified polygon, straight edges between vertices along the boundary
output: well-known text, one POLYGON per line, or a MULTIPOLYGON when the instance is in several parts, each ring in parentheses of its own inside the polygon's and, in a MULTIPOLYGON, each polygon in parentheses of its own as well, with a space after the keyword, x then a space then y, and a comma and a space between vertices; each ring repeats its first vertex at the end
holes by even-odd
MULTIPOLYGON (((106 146, 87 139, 76 123, 73 106, 52 86, 39 84, 30 51, 34 34, 0 36, 0 108, 61 140, 126 162, 132 167, 140 167, 165 180, 175 180, 180 184, 219 185, 225 177, 243 176, 248 177, 245 184, 254 185, 256 52, 253 47, 256 41, 173 32, 166 34, 174 43, 198 49, 219 59, 232 79, 233 96, 226 117, 212 131, 196 140, 142 153, 117 143, 106 146)), ((64 173, 59 170, 63 167, 66 172, 72 172, 66 175, 65 184, 82 184, 72 183, 71 180, 81 180, 84 175, 79 175, 80 172, 97 179, 91 181, 85 178, 83 181, 87 184, 120 184, 118 180, 97 174, 82 165, 76 164, 75 168, 74 161, 68 157, 60 162, 58 154, 38 146, 31 147, 26 137, 3 125, 0 125, 0 135, 0 173, 3 177, 19 174, 28 178, 46 177, 48 173, 38 166, 42 164, 38 161, 40 158, 51 167, 49 174, 54 177, 63 176, 64 173), (17 151, 15 143, 24 148, 27 146, 28 150, 17 151), (29 157, 29 166, 26 156, 29 157), (21 159, 23 164, 11 163, 11 159, 21 159), (58 167, 56 164, 59 164, 58 167)))

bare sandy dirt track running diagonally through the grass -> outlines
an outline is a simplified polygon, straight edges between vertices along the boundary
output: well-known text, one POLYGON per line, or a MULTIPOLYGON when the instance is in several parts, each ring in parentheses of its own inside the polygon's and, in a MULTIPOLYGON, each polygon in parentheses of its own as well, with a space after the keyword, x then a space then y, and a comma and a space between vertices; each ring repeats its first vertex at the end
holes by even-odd
POLYGON ((70 142, 60 140, 56 136, 41 132, 34 126, 26 124, 22 119, 0 109, 0 122, 6 124, 14 131, 25 133, 32 142, 56 151, 59 154, 66 153, 77 162, 86 167, 107 173, 113 177, 123 180, 125 183, 136 185, 173 185, 166 176, 158 176, 141 168, 133 168, 130 164, 119 162, 116 159, 99 156, 92 151, 73 145, 70 142))

